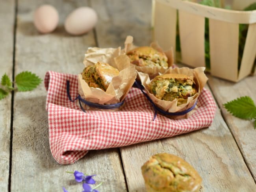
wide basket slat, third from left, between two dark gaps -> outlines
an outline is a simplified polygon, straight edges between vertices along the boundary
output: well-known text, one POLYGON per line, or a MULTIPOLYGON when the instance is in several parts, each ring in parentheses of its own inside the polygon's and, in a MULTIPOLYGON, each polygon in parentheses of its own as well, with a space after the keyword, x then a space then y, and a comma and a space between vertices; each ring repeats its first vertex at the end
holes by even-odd
POLYGON ((237 81, 239 24, 209 19, 209 35, 211 74, 237 81))

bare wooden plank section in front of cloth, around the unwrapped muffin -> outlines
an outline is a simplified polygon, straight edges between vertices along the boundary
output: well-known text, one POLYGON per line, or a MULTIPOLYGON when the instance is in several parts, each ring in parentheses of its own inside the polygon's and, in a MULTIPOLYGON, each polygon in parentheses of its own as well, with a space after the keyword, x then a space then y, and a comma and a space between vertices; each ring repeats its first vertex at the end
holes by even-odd
POLYGON ((146 191, 140 168, 151 155, 162 152, 189 162, 203 179, 203 192, 253 191, 256 187, 219 109, 206 129, 122 148, 129 191, 146 191))

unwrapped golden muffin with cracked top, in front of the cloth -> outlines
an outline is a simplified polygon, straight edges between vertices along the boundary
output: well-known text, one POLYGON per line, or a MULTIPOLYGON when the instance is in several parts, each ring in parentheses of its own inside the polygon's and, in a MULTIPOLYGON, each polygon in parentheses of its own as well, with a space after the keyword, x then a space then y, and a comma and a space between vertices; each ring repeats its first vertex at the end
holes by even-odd
POLYGON ((147 192, 199 192, 202 179, 186 161, 159 153, 141 167, 147 192))

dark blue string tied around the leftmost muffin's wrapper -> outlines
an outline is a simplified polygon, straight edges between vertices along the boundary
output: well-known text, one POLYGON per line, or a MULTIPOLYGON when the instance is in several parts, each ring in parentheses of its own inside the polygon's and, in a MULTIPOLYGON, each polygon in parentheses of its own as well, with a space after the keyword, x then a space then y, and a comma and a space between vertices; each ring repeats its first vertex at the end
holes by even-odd
POLYGON ((89 107, 95 107, 95 108, 98 108, 98 109, 116 109, 116 108, 121 107, 124 104, 124 100, 123 100, 122 102, 119 102, 119 103, 102 105, 102 104, 93 103, 93 102, 89 102, 87 100, 84 100, 79 94, 74 100, 72 100, 71 96, 70 96, 70 93, 69 93, 69 89, 70 89, 70 85, 69 85, 69 81, 67 81, 67 95, 68 95, 69 100, 71 102, 74 102, 75 100, 78 100, 82 111, 85 112, 85 113, 86 113, 86 111, 85 111, 85 109, 83 109, 82 103, 88 105, 89 107))

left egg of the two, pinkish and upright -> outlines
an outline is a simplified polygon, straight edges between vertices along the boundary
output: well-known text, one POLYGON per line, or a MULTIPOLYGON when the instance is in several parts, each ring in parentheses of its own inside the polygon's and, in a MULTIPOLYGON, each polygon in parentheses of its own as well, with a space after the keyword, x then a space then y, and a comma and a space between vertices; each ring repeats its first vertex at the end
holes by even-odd
POLYGON ((50 33, 59 22, 58 11, 51 5, 42 5, 35 10, 34 25, 41 33, 50 33))

